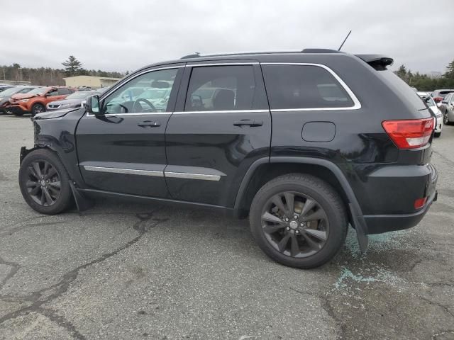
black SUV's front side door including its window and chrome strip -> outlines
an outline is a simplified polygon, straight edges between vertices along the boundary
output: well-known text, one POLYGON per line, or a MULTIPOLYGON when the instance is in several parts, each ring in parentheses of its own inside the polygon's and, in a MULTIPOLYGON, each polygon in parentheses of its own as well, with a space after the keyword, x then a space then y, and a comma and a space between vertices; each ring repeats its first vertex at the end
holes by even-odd
POLYGON ((184 64, 131 75, 101 98, 103 115, 77 127, 79 169, 89 188, 165 198, 165 128, 184 64))

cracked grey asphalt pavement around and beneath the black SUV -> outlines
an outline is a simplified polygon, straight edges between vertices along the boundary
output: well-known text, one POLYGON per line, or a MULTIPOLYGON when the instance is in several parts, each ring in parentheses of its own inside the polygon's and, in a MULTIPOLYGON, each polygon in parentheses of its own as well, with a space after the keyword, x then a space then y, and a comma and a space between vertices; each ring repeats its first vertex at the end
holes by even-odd
POLYGON ((280 266, 247 220, 98 200, 45 216, 18 188, 28 118, 0 116, 0 339, 454 339, 454 127, 438 202, 412 229, 355 234, 331 263, 280 266))

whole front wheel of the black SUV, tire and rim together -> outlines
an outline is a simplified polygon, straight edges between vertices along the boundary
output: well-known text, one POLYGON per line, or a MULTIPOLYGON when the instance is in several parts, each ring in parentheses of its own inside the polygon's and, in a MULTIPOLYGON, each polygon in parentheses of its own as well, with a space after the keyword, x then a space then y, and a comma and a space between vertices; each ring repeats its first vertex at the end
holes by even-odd
POLYGON ((72 202, 70 177, 57 155, 48 149, 36 149, 23 159, 19 169, 19 186, 26 203, 42 214, 55 215, 69 208, 72 202), (46 170, 48 176, 45 176, 46 170), (40 185, 43 181, 45 186, 40 185), (45 191, 49 196, 45 195, 45 191), (32 195, 34 192, 36 195, 32 195))

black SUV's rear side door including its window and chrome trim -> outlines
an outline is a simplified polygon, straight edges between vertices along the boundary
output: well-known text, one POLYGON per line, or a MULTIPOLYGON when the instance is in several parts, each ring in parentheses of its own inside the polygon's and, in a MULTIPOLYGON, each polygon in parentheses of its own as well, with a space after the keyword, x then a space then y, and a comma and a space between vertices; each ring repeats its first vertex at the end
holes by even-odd
POLYGON ((166 130, 172 198, 233 207, 250 164, 269 157, 270 140, 258 62, 188 63, 166 130))

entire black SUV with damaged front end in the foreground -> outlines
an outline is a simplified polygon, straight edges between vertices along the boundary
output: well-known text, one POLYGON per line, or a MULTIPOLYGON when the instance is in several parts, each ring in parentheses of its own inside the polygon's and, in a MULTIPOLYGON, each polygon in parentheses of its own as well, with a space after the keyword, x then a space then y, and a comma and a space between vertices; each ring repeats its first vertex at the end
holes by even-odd
POLYGON ((35 116, 23 198, 45 214, 97 195, 221 208, 249 215, 275 261, 321 266, 349 224, 364 250, 436 200, 433 118, 389 64, 303 50, 144 67, 84 108, 35 116))

